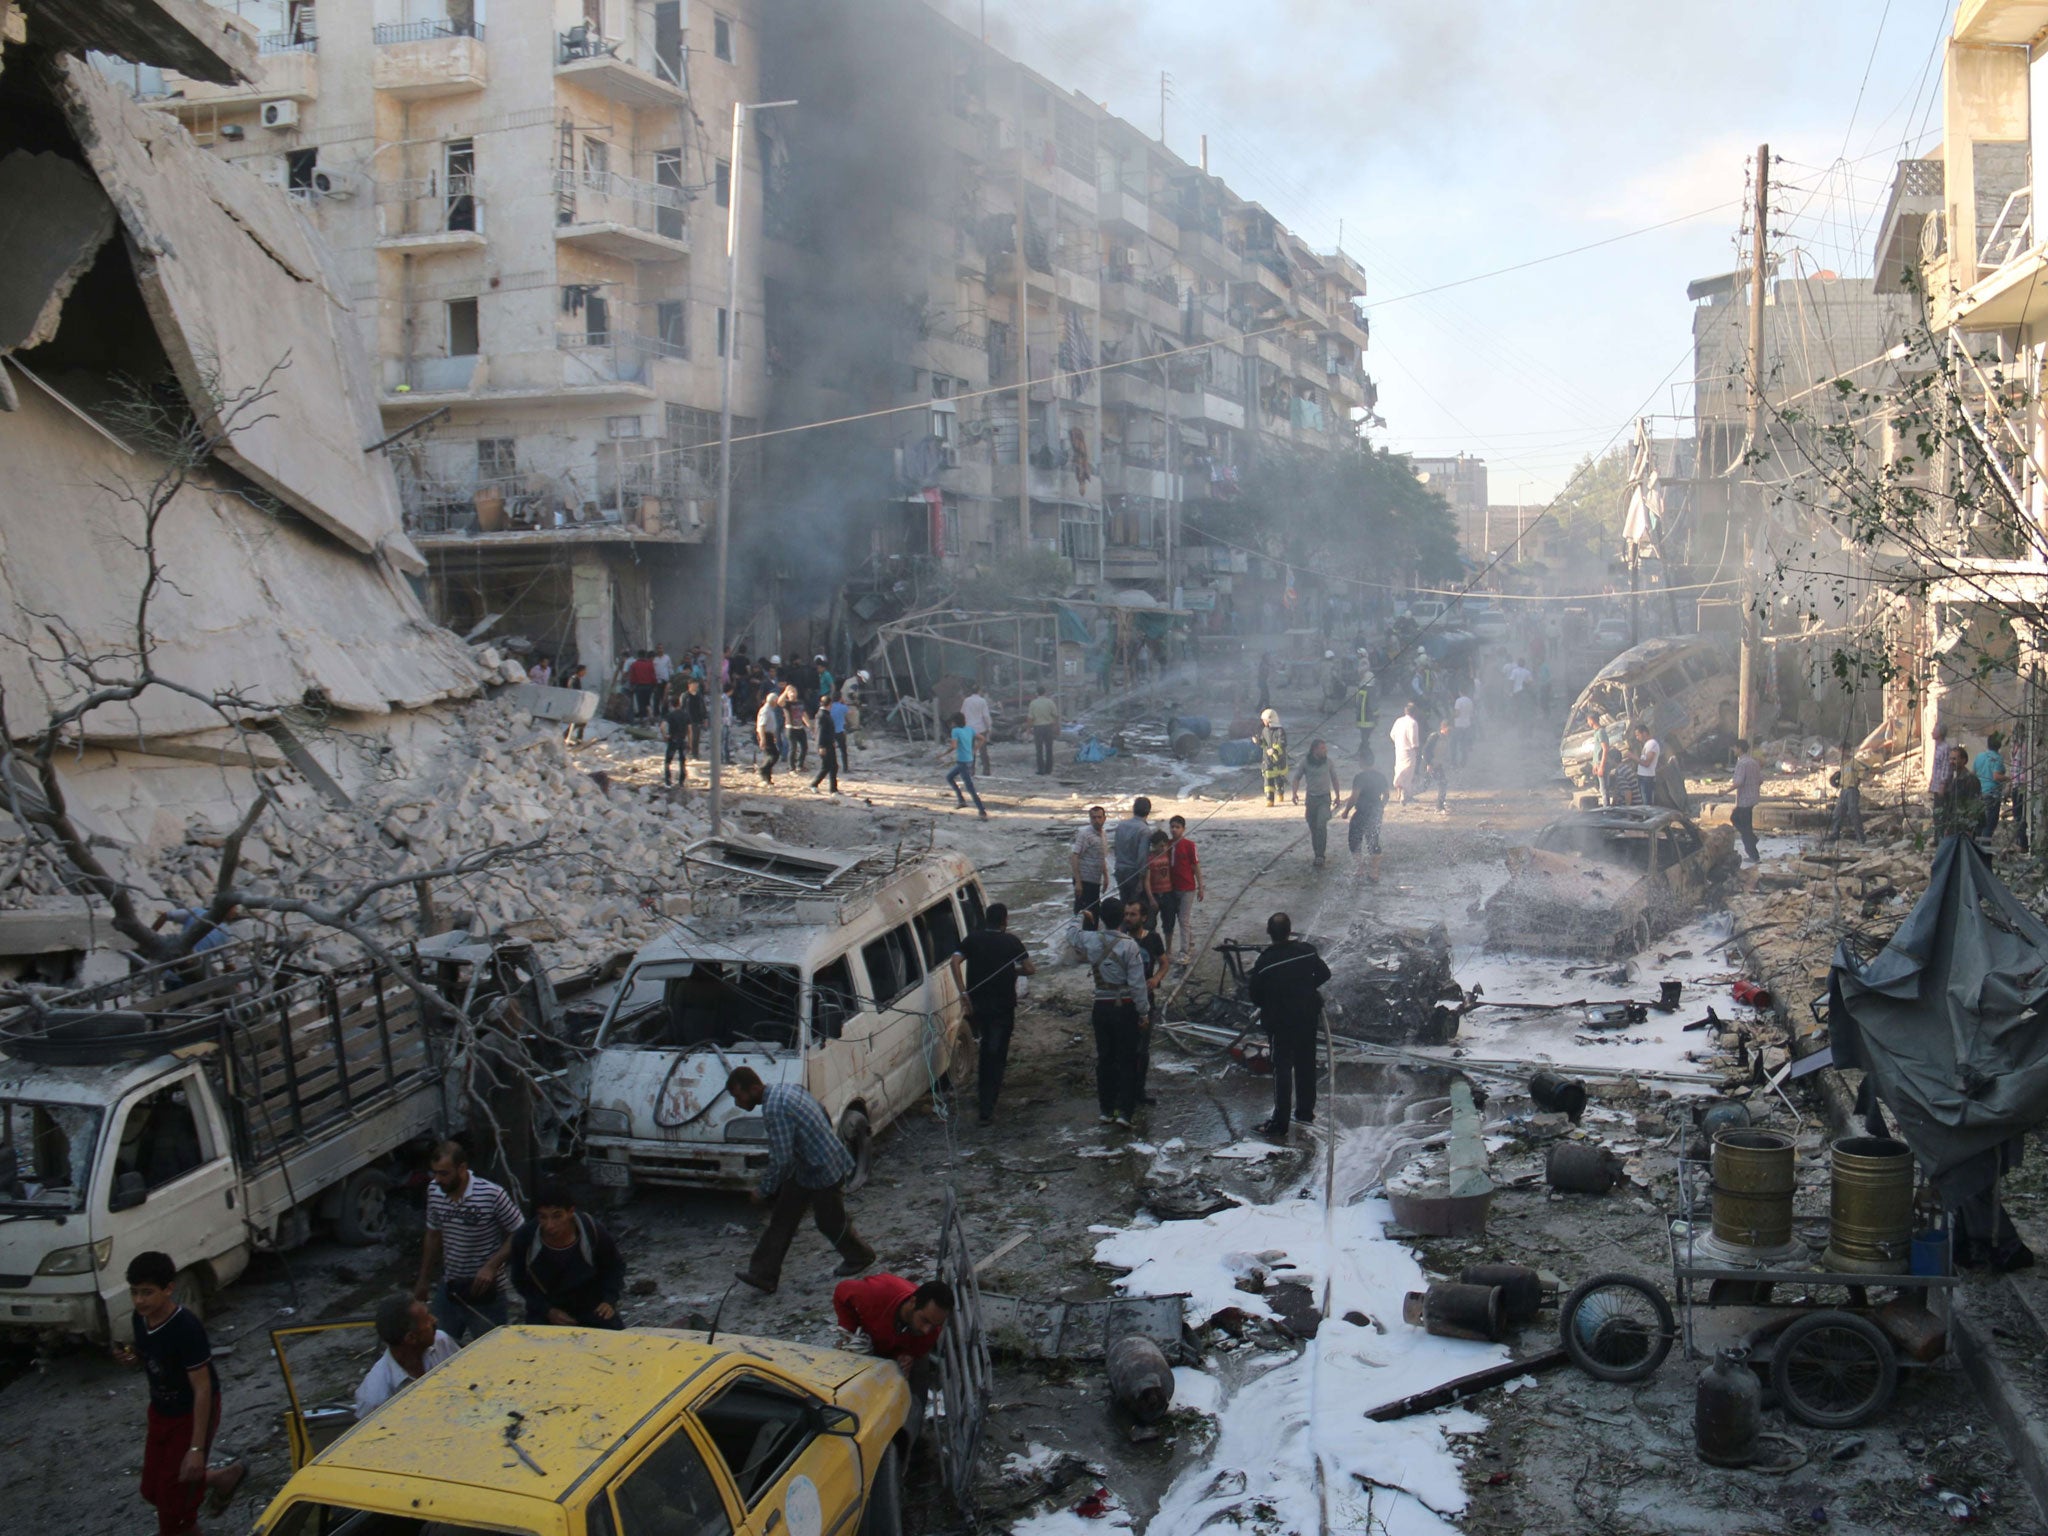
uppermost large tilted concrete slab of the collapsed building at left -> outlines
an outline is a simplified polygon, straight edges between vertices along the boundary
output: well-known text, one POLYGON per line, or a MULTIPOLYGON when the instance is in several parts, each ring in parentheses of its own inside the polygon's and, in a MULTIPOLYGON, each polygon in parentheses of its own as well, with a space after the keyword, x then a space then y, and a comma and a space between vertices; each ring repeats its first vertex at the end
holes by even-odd
POLYGON ((360 338, 311 225, 291 199, 209 156, 84 59, 55 96, 121 215, 143 301, 201 420, 262 385, 268 410, 221 449, 350 549, 412 571, 397 485, 365 446, 383 436, 360 338))

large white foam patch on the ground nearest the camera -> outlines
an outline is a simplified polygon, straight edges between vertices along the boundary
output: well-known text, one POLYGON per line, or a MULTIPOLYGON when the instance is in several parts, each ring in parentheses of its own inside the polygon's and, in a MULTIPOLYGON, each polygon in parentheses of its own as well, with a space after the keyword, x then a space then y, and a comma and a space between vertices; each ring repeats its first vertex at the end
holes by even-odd
MULTIPOLYGON (((1217 1444, 1167 1489, 1149 1530, 1161 1536, 1192 1536, 1210 1526, 1319 1530, 1321 1499, 1329 1505, 1329 1530, 1389 1536, 1450 1536, 1456 1530, 1452 1520, 1466 1499, 1448 1436, 1473 1434, 1485 1419, 1448 1409, 1372 1423, 1364 1413, 1481 1370, 1507 1352, 1440 1339, 1401 1321, 1403 1294, 1421 1290, 1425 1280, 1415 1257, 1386 1239, 1391 1219, 1382 1200, 1362 1200, 1329 1212, 1325 1225, 1319 1198, 1288 1198, 1202 1221, 1120 1231, 1096 1245, 1098 1262, 1130 1270, 1120 1290, 1186 1290, 1188 1321, 1196 1327, 1225 1307, 1272 1315, 1264 1296, 1237 1288, 1237 1278, 1251 1268, 1274 1272, 1276 1262, 1292 1264, 1280 1274, 1311 1284, 1319 1300, 1323 1276, 1329 1278, 1329 1315, 1303 1354, 1278 1358, 1229 1395, 1217 1382, 1223 1397, 1212 1409, 1217 1444), (1346 1323, 1350 1311, 1380 1319, 1386 1333, 1346 1323), (1274 1513, 1255 1516, 1253 1505, 1270 1505, 1274 1513)), ((1016 1530, 1051 1536, 1073 1526, 1032 1522, 1016 1530)))

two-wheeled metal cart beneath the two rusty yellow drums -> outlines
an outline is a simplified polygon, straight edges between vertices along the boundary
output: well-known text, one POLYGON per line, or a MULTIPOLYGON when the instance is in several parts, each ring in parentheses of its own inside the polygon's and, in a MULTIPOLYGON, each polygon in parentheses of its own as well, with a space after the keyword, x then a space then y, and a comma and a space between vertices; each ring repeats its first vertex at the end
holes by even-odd
MULTIPOLYGON (((1669 1223, 1671 1300, 1636 1274, 1597 1274, 1559 1309, 1565 1352, 1589 1376, 1647 1380, 1686 1346, 1706 1360, 1745 1346, 1784 1411, 1815 1430, 1849 1430, 1878 1417, 1898 1372, 1948 1364, 1950 1245, 1939 1274, 1864 1274, 1821 1268, 1827 1223, 1794 1227, 1788 1249, 1745 1262, 1710 1231, 1710 1165, 1679 1133, 1679 1208, 1669 1223), (1808 1260, 1806 1264, 1798 1260, 1808 1260)), ((1821 1176, 1825 1184, 1825 1174, 1821 1176)), ((1804 1180, 1810 1188, 1812 1180, 1804 1180)))

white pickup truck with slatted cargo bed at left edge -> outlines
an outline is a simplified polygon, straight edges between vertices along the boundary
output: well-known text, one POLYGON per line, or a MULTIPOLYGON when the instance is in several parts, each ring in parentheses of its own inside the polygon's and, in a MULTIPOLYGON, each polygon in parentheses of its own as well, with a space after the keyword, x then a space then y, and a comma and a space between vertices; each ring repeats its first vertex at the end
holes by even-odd
MULTIPOLYGON (((420 961, 430 983, 461 969, 420 961)), ((242 944, 14 1008, 0 1018, 0 1333, 106 1339, 147 1249, 176 1260, 180 1298, 203 1311, 256 1249, 303 1243, 315 1223, 379 1241, 401 1153, 461 1128, 459 1069, 395 971, 295 969, 242 944)))

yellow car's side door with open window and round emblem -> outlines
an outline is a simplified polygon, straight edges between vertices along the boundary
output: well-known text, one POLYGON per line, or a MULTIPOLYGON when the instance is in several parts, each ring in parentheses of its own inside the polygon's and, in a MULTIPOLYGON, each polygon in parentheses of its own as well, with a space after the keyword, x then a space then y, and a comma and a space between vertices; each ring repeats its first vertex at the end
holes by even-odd
POLYGON ((748 1536, 852 1536, 862 1495, 852 1415, 748 1366, 698 1399, 696 1423, 745 1505, 748 1536))

